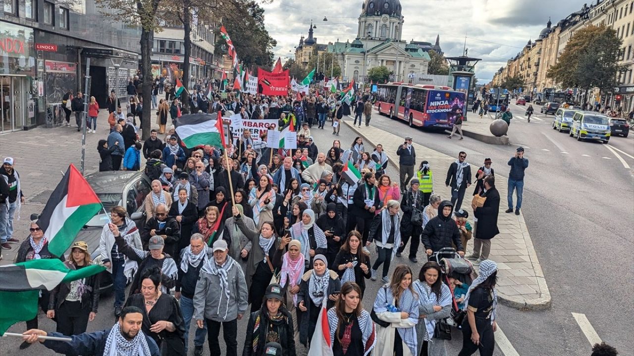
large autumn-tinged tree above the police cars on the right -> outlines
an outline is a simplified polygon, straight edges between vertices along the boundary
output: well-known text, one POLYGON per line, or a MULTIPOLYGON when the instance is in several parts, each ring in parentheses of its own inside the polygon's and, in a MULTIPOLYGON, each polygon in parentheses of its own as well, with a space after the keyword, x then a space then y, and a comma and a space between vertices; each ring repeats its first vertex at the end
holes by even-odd
POLYGON ((547 77, 563 88, 578 87, 587 92, 597 87, 603 94, 612 92, 619 85, 622 43, 610 27, 583 27, 574 32, 557 64, 548 69, 547 77))

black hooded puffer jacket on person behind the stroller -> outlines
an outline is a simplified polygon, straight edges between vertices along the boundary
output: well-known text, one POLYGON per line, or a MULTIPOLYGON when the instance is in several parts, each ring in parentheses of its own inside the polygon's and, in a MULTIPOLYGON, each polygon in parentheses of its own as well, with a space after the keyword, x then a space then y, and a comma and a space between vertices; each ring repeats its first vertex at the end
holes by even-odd
POLYGON ((451 214, 448 217, 443 215, 444 207, 451 207, 451 212, 453 212, 451 201, 443 200, 440 203, 438 215, 427 222, 421 236, 425 250, 439 251, 441 248, 451 247, 453 241, 458 251, 464 251, 465 248, 460 242, 460 230, 458 230, 455 220, 451 219, 451 214))

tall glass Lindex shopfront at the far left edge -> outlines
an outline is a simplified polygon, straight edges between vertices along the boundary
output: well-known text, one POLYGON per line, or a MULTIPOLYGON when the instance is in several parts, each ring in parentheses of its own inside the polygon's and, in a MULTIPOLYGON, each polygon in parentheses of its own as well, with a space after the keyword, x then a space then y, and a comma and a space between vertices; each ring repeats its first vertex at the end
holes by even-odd
POLYGON ((37 82, 34 32, 2 23, 0 32, 0 133, 36 125, 37 82))

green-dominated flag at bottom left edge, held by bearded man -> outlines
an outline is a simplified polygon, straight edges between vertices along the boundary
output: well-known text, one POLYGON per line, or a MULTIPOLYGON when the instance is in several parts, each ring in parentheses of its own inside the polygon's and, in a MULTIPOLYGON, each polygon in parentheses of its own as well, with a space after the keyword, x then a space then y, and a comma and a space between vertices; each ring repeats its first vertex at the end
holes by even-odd
POLYGON ((60 283, 93 276, 103 270, 105 267, 101 265, 71 270, 57 258, 0 267, 0 305, 10 306, 0 312, 0 336, 16 322, 37 316, 39 289, 52 290, 60 283))

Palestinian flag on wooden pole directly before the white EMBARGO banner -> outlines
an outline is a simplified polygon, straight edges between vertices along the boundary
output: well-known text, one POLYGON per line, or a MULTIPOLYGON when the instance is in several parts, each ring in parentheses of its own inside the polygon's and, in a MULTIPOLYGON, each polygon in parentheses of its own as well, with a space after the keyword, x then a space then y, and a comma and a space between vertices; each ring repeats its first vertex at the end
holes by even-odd
MULTIPOLYGON (((218 111, 218 116, 221 115, 218 111)), ((176 122, 176 133, 186 148, 194 148, 199 144, 220 147, 223 141, 217 121, 210 119, 207 114, 184 115, 176 122)))

